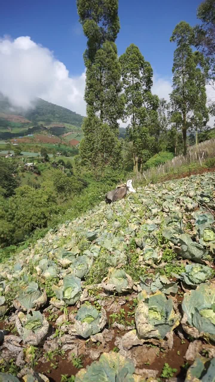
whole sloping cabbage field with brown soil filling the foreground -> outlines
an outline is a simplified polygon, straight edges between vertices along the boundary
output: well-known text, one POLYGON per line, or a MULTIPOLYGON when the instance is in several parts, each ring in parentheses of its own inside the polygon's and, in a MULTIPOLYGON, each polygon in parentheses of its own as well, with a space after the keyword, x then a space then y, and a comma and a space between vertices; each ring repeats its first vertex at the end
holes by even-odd
POLYGON ((215 173, 136 191, 0 264, 0 381, 215 380, 215 173))

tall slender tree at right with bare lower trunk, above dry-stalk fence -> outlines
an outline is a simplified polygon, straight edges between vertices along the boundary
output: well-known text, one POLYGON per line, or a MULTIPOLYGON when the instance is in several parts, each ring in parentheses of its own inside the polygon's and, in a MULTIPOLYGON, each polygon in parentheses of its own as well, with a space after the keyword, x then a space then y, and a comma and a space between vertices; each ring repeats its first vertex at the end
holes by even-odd
POLYGON ((170 38, 176 42, 173 60, 173 91, 170 95, 172 118, 177 116, 183 134, 184 155, 187 154, 187 129, 202 129, 209 119, 206 107, 204 57, 192 51, 194 30, 181 21, 170 38))

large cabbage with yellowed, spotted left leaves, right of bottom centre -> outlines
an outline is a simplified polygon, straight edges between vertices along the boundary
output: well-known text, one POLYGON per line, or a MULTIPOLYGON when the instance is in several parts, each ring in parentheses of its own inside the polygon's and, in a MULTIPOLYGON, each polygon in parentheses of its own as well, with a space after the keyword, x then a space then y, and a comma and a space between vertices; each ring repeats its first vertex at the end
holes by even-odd
POLYGON ((164 338, 180 323, 180 314, 173 308, 172 299, 157 291, 138 303, 135 321, 141 338, 164 338))

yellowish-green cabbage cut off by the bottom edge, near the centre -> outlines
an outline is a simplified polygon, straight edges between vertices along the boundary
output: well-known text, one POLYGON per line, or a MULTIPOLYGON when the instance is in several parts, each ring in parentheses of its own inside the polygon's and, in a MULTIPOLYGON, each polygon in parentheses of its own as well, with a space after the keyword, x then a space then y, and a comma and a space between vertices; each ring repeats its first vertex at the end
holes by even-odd
POLYGON ((94 361, 75 376, 75 382, 134 382, 133 362, 114 351, 103 353, 99 361, 94 361))

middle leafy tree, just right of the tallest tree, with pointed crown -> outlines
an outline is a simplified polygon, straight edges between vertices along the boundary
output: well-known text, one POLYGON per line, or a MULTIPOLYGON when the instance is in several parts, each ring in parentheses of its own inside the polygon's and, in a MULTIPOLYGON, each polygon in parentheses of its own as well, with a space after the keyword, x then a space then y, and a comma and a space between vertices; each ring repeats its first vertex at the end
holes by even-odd
POLYGON ((133 143, 134 172, 153 152, 158 115, 158 97, 152 95, 153 71, 138 47, 131 44, 119 58, 125 94, 124 117, 131 119, 127 129, 133 143), (149 130, 150 129, 150 130, 149 130))

